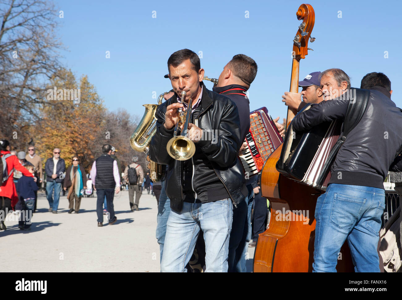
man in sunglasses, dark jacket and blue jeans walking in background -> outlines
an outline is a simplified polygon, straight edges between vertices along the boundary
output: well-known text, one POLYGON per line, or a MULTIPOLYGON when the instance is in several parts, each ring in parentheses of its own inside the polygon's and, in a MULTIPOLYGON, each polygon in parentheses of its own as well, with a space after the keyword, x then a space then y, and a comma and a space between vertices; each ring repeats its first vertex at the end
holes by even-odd
POLYGON ((66 163, 60 158, 60 152, 59 148, 53 149, 53 157, 48 158, 45 163, 47 201, 49 201, 49 211, 53 213, 57 213, 59 207, 63 173, 66 171, 66 163))

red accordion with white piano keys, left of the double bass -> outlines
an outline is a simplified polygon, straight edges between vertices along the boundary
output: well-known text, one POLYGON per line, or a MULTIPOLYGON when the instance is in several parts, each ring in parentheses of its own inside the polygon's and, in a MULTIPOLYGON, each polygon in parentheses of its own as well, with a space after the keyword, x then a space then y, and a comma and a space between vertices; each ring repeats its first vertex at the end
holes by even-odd
POLYGON ((250 130, 244 143, 246 150, 239 156, 244 172, 248 176, 258 174, 271 153, 283 142, 267 108, 250 113, 250 130))

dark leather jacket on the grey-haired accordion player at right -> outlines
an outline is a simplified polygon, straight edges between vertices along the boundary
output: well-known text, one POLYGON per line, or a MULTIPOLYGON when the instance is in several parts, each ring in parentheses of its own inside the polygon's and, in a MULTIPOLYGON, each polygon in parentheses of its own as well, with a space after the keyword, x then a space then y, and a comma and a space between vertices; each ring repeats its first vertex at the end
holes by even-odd
MULTIPOLYGON (((294 130, 306 130, 324 121, 345 118, 349 101, 347 92, 343 99, 322 101, 297 114, 292 121, 294 130)), ((401 124, 400 108, 383 93, 370 90, 363 117, 348 134, 332 164, 329 183, 384 189, 384 179, 402 144, 401 124)))

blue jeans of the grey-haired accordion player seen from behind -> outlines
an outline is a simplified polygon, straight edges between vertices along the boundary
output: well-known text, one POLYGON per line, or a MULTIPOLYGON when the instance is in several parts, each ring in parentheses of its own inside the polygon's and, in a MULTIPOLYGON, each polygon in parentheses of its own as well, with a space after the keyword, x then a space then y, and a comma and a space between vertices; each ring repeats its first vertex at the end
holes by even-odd
POLYGON ((314 272, 336 272, 348 241, 356 272, 379 272, 377 253, 385 192, 381 188, 330 184, 317 199, 314 272))

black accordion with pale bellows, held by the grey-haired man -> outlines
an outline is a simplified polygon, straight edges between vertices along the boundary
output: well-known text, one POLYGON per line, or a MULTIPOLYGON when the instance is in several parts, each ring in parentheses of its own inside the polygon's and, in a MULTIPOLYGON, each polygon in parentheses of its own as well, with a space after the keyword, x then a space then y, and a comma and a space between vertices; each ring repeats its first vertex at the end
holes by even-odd
POLYGON ((334 158, 330 154, 339 139, 341 126, 341 120, 334 120, 321 123, 310 130, 295 132, 290 124, 281 157, 277 161, 277 171, 287 178, 326 190, 334 158))

